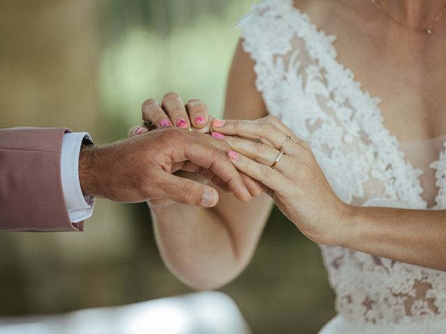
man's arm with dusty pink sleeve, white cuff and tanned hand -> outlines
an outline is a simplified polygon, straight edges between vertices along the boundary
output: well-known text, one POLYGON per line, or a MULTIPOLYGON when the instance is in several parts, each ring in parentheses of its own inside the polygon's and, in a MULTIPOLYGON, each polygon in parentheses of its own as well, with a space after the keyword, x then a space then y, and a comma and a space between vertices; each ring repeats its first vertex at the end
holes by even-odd
POLYGON ((170 198, 213 207, 218 193, 212 186, 171 175, 185 161, 197 171, 209 168, 238 199, 250 199, 226 157, 229 147, 206 134, 163 129, 79 154, 80 141, 68 140, 66 132, 0 129, 0 230, 83 230, 94 197, 115 202, 170 198), (64 152, 70 152, 71 162, 64 152))

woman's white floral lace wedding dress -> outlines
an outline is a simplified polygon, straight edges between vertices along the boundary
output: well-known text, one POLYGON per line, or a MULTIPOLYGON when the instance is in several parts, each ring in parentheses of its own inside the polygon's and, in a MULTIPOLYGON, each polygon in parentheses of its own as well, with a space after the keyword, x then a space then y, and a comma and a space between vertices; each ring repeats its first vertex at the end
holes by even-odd
MULTIPOLYGON (((337 61, 334 36, 290 0, 258 3, 239 25, 268 112, 309 143, 341 200, 446 209, 446 137, 399 143, 383 125, 380 100, 337 61)), ((446 333, 446 272, 321 250, 338 312, 321 333, 446 333)))

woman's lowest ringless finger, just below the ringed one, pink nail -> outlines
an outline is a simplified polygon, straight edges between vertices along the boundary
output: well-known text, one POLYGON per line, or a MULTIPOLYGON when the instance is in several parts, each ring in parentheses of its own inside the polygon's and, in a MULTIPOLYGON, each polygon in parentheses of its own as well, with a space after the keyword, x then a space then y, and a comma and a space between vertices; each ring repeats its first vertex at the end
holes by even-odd
POLYGON ((243 154, 229 151, 228 157, 240 172, 260 181, 274 191, 283 190, 289 185, 289 179, 279 171, 244 157, 243 154))

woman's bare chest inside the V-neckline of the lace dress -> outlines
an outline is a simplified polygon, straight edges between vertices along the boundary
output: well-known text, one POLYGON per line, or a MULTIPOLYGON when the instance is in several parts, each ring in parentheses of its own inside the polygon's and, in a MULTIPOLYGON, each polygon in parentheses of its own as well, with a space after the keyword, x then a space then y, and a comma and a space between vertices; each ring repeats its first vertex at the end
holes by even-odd
POLYGON ((446 39, 364 33, 352 31, 334 47, 337 61, 352 70, 362 89, 380 98, 383 125, 399 141, 446 134, 446 39))

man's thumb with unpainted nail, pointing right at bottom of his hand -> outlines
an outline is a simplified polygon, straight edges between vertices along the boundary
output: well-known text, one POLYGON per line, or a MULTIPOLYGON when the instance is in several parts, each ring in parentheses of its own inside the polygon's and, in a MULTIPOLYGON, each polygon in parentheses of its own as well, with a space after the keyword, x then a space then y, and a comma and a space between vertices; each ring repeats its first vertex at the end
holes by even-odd
POLYGON ((215 207, 217 205, 218 192, 212 186, 169 173, 164 173, 162 178, 163 180, 160 180, 160 184, 162 184, 160 197, 162 198, 201 207, 215 207))

